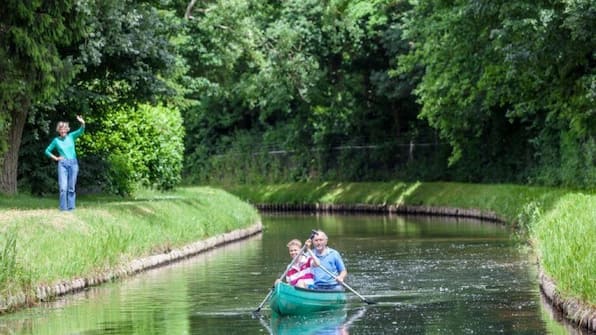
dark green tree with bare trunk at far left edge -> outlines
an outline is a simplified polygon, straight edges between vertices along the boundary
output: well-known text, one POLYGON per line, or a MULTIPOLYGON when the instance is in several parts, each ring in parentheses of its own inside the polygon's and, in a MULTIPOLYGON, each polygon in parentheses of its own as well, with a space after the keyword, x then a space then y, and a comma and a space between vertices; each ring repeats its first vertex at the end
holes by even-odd
POLYGON ((18 153, 27 115, 54 99, 75 71, 60 48, 85 34, 83 3, 4 1, 0 8, 0 192, 17 190, 18 153))

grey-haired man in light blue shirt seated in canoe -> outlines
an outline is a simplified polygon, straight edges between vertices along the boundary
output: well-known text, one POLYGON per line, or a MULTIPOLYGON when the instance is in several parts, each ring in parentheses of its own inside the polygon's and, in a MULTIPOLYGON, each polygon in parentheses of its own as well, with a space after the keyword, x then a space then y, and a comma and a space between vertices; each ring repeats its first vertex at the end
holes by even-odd
POLYGON ((339 252, 329 248, 327 241, 327 234, 322 230, 318 230, 313 237, 314 255, 319 263, 312 268, 314 288, 317 290, 343 290, 342 283, 348 275, 348 270, 339 252))

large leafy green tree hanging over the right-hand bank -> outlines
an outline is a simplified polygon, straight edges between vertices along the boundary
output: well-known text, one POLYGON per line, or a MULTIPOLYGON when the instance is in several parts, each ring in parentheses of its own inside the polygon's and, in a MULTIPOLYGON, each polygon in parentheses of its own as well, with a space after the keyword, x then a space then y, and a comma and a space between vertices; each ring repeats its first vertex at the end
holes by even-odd
POLYGON ((472 176, 493 165, 497 179, 594 185, 595 15, 592 1, 414 7, 400 65, 424 66, 420 116, 452 145, 452 162, 472 176))

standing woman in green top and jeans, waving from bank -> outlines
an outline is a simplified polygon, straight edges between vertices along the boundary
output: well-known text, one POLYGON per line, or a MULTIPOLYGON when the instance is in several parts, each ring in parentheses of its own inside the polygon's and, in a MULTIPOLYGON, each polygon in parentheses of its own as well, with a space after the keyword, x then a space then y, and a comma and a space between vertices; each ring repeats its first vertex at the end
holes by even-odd
POLYGON ((60 210, 71 211, 75 208, 76 184, 79 175, 79 162, 75 150, 75 140, 85 132, 85 120, 77 115, 81 123, 79 129, 69 133, 68 122, 60 121, 56 125, 58 137, 55 137, 46 148, 45 154, 58 162, 58 190, 60 191, 60 210), (52 151, 56 150, 58 156, 52 151))

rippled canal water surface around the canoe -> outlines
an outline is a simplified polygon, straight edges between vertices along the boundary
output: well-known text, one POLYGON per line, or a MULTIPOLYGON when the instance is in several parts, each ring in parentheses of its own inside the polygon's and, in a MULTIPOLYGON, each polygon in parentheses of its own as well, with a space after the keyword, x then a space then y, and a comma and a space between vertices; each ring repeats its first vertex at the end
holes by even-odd
POLYGON ((0 317, 0 334, 581 334, 541 302, 534 257, 503 225, 401 216, 263 214, 258 236, 0 317), (322 229, 343 255, 344 310, 264 304, 286 243, 322 229))

